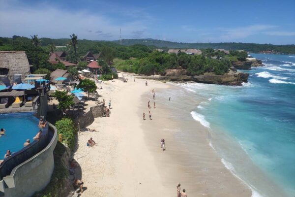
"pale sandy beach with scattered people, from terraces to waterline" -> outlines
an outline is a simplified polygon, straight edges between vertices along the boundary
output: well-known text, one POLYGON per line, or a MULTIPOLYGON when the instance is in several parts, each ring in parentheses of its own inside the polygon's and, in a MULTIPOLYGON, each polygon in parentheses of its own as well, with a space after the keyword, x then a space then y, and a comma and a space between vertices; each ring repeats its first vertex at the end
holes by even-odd
POLYGON ((133 82, 133 77, 124 75, 129 78, 128 83, 114 80, 98 85, 103 87, 98 91, 102 95, 99 99, 105 99, 106 105, 111 100, 111 115, 95 118, 88 128, 97 132, 84 131, 79 135, 74 158, 78 158, 87 188, 82 196, 173 197, 181 183, 181 190, 186 189, 190 197, 251 197, 251 190, 231 174, 208 145, 205 127, 197 122, 171 121, 165 105, 152 99, 152 89, 157 95, 158 91, 175 87, 159 81, 148 81, 146 86, 146 80, 133 82), (148 120, 148 110, 152 120, 148 120), (181 146, 184 142, 167 132, 174 128, 196 130, 192 140, 198 151, 192 156, 189 149, 181 146), (87 147, 90 137, 96 146, 87 147), (165 138, 166 151, 160 148, 161 138, 165 138), (188 164, 190 157, 194 165, 188 164))

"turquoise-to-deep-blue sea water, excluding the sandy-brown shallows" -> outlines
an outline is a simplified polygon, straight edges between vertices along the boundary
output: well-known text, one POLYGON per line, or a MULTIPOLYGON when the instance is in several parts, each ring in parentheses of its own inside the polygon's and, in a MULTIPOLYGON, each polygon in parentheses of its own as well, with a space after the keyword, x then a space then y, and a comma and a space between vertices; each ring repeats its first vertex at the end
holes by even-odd
POLYGON ((230 135, 255 165, 294 197, 295 56, 251 55, 266 66, 244 71, 250 76, 242 87, 184 85, 207 100, 191 115, 210 130, 230 135))

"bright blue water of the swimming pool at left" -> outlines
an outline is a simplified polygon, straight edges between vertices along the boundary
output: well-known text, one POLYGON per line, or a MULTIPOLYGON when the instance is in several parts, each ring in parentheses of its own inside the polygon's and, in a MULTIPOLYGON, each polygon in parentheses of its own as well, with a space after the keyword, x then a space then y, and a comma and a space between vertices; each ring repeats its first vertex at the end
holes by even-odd
POLYGON ((0 128, 6 130, 5 135, 0 137, 0 160, 7 149, 15 153, 24 147, 27 139, 32 142, 39 131, 38 123, 33 113, 0 114, 0 128))

